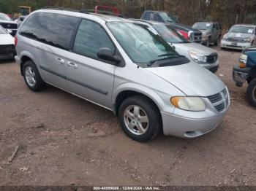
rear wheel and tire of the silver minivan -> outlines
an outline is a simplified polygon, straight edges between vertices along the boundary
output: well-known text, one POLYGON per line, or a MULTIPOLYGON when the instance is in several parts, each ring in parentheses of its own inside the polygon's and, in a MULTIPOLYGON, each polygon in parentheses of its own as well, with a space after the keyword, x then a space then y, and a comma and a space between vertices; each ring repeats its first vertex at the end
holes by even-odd
POLYGON ((23 77, 30 90, 37 92, 45 88, 45 82, 40 77, 37 66, 33 61, 24 63, 23 77))

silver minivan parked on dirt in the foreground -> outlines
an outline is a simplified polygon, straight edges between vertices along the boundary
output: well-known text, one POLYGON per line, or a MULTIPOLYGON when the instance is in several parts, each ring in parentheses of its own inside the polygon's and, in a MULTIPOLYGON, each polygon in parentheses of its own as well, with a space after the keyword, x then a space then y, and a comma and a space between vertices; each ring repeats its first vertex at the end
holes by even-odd
POLYGON ((47 83, 110 109, 136 141, 161 131, 201 136, 219 126, 230 106, 218 77, 131 20, 40 9, 22 23, 15 45, 31 90, 47 83))

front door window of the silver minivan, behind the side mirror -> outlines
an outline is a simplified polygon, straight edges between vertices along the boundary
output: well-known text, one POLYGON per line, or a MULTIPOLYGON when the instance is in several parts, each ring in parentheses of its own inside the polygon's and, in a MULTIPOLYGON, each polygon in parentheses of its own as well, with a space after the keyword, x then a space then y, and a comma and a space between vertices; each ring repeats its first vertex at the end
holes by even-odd
POLYGON ((91 20, 83 20, 78 28, 73 50, 90 58, 98 58, 99 48, 108 47, 115 53, 116 48, 105 30, 91 20))

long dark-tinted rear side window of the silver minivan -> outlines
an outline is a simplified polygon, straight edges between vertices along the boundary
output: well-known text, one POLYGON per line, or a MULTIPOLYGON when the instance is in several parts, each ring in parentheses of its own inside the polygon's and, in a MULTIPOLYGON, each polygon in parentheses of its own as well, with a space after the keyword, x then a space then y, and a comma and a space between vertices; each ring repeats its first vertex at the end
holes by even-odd
POLYGON ((78 17, 67 15, 34 13, 20 28, 20 35, 69 50, 69 43, 78 20, 78 17))

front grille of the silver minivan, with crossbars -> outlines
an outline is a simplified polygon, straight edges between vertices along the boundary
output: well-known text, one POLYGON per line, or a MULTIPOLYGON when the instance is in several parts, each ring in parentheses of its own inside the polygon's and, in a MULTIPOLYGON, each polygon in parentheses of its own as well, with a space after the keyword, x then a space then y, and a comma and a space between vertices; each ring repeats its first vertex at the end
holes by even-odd
POLYGON ((224 111, 230 104, 230 98, 226 88, 221 93, 208 96, 208 100, 211 101, 211 104, 213 104, 218 112, 224 111))

